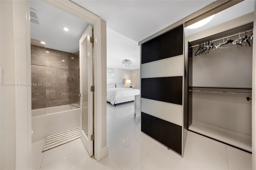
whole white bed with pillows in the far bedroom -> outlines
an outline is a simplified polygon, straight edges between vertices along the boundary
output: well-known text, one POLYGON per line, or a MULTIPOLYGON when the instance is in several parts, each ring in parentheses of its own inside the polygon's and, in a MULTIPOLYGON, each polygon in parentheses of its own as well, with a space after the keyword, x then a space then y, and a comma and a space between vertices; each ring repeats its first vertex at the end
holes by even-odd
POLYGON ((127 88, 124 83, 107 84, 107 101, 114 106, 119 103, 134 101, 135 95, 140 95, 140 89, 127 88))

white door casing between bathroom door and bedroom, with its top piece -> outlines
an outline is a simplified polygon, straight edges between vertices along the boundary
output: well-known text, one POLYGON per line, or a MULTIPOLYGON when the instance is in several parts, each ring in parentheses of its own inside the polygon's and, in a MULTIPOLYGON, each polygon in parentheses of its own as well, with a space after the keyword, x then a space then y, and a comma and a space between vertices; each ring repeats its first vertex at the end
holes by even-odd
POLYGON ((106 142, 106 21, 69 0, 43 0, 94 28, 94 157, 97 161, 108 155, 106 142))

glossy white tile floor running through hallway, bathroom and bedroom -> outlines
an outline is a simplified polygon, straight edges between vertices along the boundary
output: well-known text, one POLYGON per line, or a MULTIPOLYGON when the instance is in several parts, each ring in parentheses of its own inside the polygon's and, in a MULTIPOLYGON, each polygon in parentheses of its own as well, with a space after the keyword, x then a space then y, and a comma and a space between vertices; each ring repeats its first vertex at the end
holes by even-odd
POLYGON ((82 141, 74 140, 42 153, 44 139, 32 144, 35 170, 250 170, 252 155, 204 136, 184 131, 184 157, 140 132, 133 103, 107 104, 109 155, 97 162, 82 141))

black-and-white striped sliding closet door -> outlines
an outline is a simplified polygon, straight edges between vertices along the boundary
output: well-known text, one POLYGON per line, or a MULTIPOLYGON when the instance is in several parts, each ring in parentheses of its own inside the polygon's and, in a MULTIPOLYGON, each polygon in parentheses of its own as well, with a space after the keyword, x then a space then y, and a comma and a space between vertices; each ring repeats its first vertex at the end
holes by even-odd
POLYGON ((182 156, 183 24, 141 45, 141 131, 182 156))

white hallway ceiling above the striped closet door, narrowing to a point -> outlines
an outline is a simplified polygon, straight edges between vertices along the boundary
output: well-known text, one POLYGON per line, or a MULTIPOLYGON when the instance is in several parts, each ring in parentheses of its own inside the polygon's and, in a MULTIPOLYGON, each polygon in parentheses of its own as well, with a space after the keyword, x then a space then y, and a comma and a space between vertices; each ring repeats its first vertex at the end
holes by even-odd
POLYGON ((215 0, 72 0, 107 22, 107 27, 140 42, 215 0))

